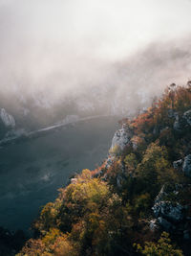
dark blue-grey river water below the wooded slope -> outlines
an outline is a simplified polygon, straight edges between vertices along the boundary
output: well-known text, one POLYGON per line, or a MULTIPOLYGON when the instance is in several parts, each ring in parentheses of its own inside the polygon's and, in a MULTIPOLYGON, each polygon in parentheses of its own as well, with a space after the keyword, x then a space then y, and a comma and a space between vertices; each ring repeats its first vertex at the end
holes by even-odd
POLYGON ((0 226, 27 231, 71 175, 101 163, 117 120, 84 121, 0 149, 0 226))

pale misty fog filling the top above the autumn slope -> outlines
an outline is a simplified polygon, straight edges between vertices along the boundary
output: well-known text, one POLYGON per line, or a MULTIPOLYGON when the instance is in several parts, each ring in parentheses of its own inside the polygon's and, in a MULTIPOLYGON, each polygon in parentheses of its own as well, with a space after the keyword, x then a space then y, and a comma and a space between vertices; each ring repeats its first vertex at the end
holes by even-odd
POLYGON ((1 95, 146 105, 190 77, 190 10, 187 0, 1 0, 1 95))

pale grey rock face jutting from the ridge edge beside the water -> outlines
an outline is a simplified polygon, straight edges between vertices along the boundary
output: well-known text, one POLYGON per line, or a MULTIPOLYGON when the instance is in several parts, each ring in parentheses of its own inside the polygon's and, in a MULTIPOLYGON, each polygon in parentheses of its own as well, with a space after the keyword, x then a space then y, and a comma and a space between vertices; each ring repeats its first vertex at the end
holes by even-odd
POLYGON ((124 150, 125 146, 130 142, 133 134, 131 130, 127 127, 122 127, 118 129, 112 140, 111 150, 118 147, 121 151, 124 150))

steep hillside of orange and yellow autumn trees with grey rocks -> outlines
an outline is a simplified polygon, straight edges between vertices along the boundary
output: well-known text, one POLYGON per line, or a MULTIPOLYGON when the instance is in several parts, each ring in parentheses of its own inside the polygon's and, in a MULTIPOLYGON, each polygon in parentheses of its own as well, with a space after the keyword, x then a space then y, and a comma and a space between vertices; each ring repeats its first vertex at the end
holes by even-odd
POLYGON ((102 166, 60 188, 17 256, 190 255, 191 82, 119 123, 102 166))

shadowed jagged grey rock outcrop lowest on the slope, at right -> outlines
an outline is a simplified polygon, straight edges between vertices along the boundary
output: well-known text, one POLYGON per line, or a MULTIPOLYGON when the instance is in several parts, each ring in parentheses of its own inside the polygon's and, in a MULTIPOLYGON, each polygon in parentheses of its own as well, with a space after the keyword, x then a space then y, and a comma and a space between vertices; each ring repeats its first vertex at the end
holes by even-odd
MULTIPOLYGON (((186 191, 189 186, 189 184, 186 185, 186 191)), ((160 229, 190 241, 189 204, 182 205, 174 199, 167 199, 171 198, 172 194, 176 197, 184 188, 185 185, 182 184, 174 184, 173 187, 162 186, 152 208, 155 217, 149 222, 149 228, 152 232, 160 229)))

